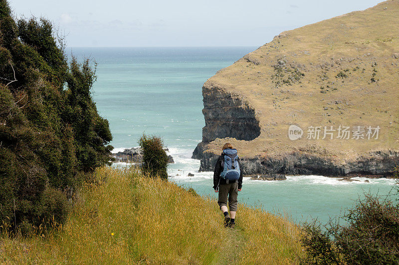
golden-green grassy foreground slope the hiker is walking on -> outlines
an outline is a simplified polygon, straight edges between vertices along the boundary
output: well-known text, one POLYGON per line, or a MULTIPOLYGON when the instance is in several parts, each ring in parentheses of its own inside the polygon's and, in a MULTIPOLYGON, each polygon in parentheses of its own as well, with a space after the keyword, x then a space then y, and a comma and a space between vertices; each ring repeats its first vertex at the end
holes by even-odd
POLYGON ((292 264, 302 253, 283 218, 239 205, 236 229, 225 229, 214 200, 173 183, 110 167, 95 177, 61 229, 3 234, 0 263, 292 264))

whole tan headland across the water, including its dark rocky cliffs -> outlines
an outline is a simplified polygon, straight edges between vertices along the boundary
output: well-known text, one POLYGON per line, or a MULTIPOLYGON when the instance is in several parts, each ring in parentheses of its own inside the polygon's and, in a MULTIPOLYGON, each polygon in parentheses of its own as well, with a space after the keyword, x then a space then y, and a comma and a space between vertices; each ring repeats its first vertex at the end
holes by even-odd
POLYGON ((218 71, 202 94, 193 154, 202 171, 229 141, 246 175, 390 175, 399 163, 399 1, 282 32, 218 71), (301 138, 290 140, 290 125, 301 138))

